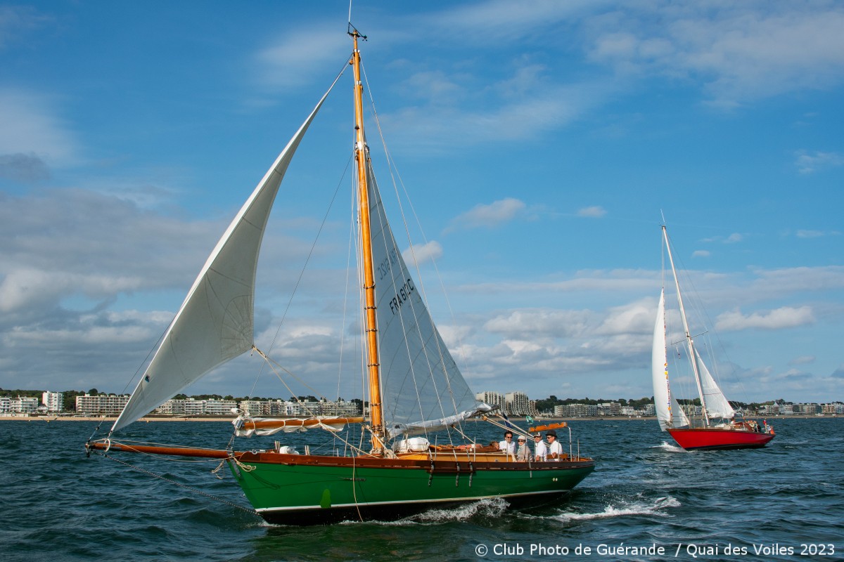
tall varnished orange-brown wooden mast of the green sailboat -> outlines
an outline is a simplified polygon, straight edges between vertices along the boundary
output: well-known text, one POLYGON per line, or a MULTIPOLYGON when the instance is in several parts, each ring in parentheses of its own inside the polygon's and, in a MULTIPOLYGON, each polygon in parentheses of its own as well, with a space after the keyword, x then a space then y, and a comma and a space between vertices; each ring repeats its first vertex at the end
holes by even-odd
POLYGON ((370 420, 373 452, 384 449, 384 421, 381 408, 381 365, 378 361, 378 325, 376 320, 375 269, 372 265, 372 238, 369 201, 369 147, 364 133, 363 83, 360 81, 360 51, 358 38, 366 39, 352 27, 354 51, 349 64, 354 68, 354 158, 358 165, 358 213, 360 217, 360 245, 364 268, 365 339, 369 361, 370 420))

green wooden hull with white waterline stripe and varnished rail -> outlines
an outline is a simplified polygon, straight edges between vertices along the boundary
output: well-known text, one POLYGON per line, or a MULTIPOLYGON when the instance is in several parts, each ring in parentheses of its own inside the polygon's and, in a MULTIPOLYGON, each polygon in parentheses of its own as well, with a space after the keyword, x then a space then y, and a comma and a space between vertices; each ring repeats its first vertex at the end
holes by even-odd
POLYGON ((594 469, 591 460, 528 467, 273 453, 245 453, 240 462, 230 466, 246 498, 268 522, 284 524, 383 521, 496 497, 538 505, 567 494, 594 469))

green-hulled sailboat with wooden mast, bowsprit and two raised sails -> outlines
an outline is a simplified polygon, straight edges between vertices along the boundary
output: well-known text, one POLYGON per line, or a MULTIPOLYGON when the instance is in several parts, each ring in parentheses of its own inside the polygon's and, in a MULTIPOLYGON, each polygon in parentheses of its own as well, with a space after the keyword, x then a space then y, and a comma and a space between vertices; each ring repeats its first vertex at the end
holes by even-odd
POLYGON ((366 447, 347 442, 349 452, 331 456, 307 449, 298 454, 280 445, 237 451, 233 446, 165 447, 119 439, 123 427, 225 361, 246 351, 257 351, 270 361, 253 341, 258 253, 284 173, 337 80, 220 238, 108 436, 92 438, 86 447, 89 452, 219 458, 228 463, 257 513, 275 523, 388 520, 485 498, 504 498, 511 506, 557 500, 592 472, 592 459, 570 447, 560 458, 517 462, 508 452, 479 446, 466 436, 467 420, 498 424, 495 411, 475 399, 457 369, 387 222, 364 128, 358 44, 365 36, 351 24, 349 35, 354 44, 349 66, 354 72, 358 269, 369 408, 360 417, 268 419, 241 414, 235 435, 334 433, 360 425, 366 447), (431 444, 435 434, 446 434, 448 442, 431 444))

